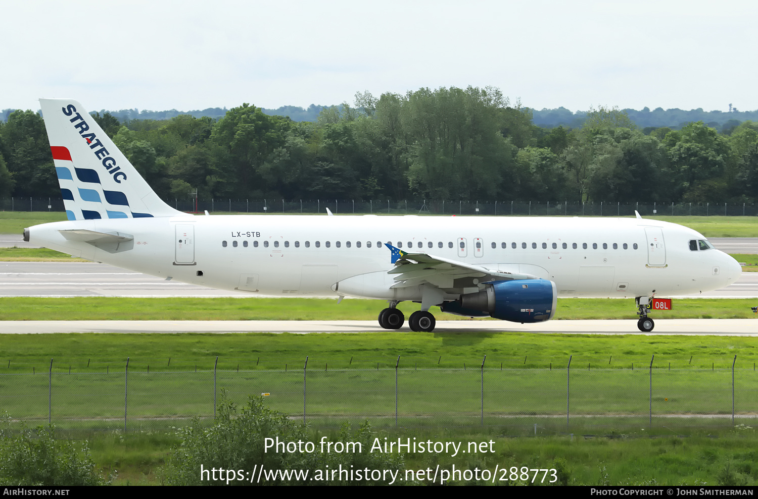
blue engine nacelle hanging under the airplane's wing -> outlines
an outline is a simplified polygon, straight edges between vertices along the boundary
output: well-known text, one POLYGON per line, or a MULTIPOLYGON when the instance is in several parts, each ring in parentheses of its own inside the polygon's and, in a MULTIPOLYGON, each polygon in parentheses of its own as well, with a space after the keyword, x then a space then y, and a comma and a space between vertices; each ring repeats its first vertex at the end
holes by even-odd
POLYGON ((556 313, 556 283, 547 279, 485 282, 480 292, 461 295, 462 309, 481 310, 514 323, 539 323, 556 313))

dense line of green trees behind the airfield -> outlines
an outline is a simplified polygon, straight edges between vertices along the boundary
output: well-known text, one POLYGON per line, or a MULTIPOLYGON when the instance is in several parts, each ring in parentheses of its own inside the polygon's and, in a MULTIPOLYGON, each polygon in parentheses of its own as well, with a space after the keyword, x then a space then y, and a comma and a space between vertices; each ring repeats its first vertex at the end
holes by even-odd
MULTIPOLYGON (((93 117, 163 198, 758 201, 758 123, 640 129, 600 107, 548 128, 491 87, 359 92, 315 122, 249 104, 218 120, 93 117)), ((11 195, 60 195, 33 111, 0 123, 0 197, 11 195)))

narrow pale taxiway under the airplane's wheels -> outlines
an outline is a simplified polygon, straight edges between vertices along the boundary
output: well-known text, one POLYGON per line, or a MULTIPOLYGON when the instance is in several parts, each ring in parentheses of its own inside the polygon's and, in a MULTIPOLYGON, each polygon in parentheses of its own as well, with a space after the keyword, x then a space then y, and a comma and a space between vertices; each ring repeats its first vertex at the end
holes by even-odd
MULTIPOLYGON (((24 320, 0 321, 0 334, 45 334, 76 332, 111 333, 239 333, 392 332, 375 320, 24 320)), ((406 323, 396 331, 410 332, 406 323)), ((502 320, 438 320, 431 334, 472 332, 534 332, 592 335, 717 335, 758 336, 758 319, 669 319, 656 320, 653 332, 640 332, 636 320, 551 320, 540 324, 518 324, 502 320)))

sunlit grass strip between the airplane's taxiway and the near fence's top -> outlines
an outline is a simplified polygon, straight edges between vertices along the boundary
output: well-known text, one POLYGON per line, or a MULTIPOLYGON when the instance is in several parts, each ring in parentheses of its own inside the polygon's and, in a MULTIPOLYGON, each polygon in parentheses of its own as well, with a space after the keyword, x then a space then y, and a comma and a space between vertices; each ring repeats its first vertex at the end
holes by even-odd
MULTIPOLYGON (((463 368, 478 370, 484 355, 487 367, 506 369, 586 369, 648 366, 655 355, 657 369, 753 369, 758 344, 741 336, 685 335, 535 335, 529 332, 372 332, 366 334, 312 333, 71 333, 3 335, 0 374, 53 372, 100 373, 106 366, 124 372, 219 370, 463 368), (326 365, 328 363, 328 366, 326 365), (89 365, 89 367, 87 367, 89 365)), ((46 385, 45 385, 46 387, 46 385)))

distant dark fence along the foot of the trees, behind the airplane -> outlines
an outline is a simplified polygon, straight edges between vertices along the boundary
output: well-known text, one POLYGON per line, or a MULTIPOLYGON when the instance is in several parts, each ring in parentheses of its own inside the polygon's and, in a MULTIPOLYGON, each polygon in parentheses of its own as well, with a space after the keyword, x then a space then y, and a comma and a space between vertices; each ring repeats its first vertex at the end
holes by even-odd
MULTIPOLYGON (((391 215, 540 215, 633 217, 642 216, 758 216, 753 203, 579 203, 569 201, 390 201, 384 200, 283 200, 283 199, 166 199, 188 213, 248 214, 391 214, 391 215)), ((2 198, 2 211, 65 211, 61 198, 2 198)))

